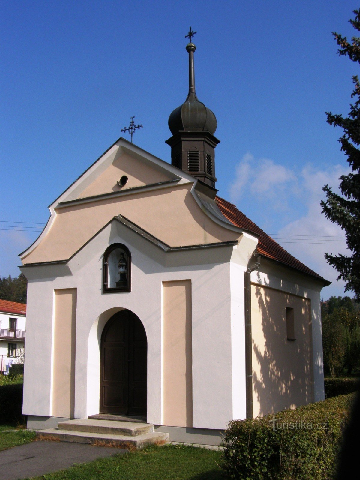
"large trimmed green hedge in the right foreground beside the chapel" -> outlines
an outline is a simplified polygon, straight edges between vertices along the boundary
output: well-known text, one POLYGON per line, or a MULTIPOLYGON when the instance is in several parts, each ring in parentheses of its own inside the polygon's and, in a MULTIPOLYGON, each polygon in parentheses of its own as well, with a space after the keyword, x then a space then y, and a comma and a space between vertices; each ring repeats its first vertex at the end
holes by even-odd
POLYGON ((230 421, 223 437, 223 468, 232 479, 331 479, 353 399, 353 394, 342 395, 263 418, 230 421))

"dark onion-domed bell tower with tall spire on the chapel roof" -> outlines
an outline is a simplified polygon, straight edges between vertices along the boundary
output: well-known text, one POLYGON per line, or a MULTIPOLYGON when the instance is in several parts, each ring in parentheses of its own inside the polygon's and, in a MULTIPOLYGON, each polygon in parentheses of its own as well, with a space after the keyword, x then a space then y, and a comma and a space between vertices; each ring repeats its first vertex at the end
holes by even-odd
POLYGON ((189 94, 180 107, 175 108, 169 117, 172 133, 166 143, 171 147, 171 164, 181 168, 193 177, 215 187, 215 147, 218 140, 214 133, 217 121, 214 113, 199 101, 195 93, 193 32, 190 27, 189 53, 189 94))

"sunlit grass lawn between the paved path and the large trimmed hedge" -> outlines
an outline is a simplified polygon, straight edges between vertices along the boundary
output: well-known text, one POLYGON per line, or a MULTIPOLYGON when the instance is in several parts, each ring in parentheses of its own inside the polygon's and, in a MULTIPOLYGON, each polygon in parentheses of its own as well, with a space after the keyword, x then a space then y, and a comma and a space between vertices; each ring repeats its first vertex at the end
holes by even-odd
MULTIPOLYGON (((221 452, 187 445, 148 447, 36 477, 38 480, 220 480, 221 452)), ((35 477, 34 479, 35 480, 35 477)))

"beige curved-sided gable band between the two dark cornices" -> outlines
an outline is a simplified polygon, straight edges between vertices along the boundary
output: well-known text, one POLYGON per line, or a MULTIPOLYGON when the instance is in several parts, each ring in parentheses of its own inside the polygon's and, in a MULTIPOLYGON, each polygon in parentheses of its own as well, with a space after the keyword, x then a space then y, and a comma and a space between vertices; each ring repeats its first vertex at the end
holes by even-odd
POLYGON ((204 214, 191 187, 179 185, 58 208, 48 234, 22 258, 23 263, 69 259, 119 214, 172 247, 238 239, 239 233, 219 226, 204 214))

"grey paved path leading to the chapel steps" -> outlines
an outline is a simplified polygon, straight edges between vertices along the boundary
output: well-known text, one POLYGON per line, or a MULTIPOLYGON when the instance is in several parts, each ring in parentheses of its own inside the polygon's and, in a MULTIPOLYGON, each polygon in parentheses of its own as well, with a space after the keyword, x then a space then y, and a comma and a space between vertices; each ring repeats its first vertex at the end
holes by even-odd
POLYGON ((96 458, 125 453, 122 448, 96 447, 70 442, 31 442, 0 452, 0 479, 36 477, 86 463, 96 458))

